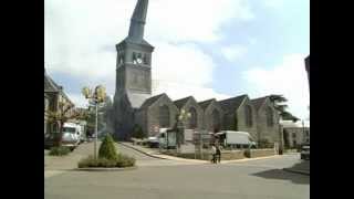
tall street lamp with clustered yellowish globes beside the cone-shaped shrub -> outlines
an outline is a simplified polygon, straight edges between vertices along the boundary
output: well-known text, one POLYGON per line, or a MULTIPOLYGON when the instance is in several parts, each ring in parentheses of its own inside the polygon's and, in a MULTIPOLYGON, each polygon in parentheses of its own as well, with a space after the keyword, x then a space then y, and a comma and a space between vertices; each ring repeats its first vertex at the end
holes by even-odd
POLYGON ((98 135, 98 104, 103 103, 106 98, 106 91, 105 87, 102 85, 97 85, 92 92, 88 87, 82 88, 82 94, 85 96, 85 98, 88 100, 88 103, 94 104, 96 107, 96 126, 95 126, 95 142, 94 142, 94 159, 97 158, 97 135, 98 135))

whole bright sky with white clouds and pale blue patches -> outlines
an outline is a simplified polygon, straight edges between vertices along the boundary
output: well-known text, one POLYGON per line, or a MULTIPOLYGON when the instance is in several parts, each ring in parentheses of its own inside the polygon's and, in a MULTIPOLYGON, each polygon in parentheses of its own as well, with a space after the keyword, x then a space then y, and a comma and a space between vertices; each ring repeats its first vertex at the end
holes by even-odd
MULTIPOLYGON (((76 104, 83 86, 115 91, 116 50, 137 0, 46 0, 44 66, 76 104)), ((153 94, 171 100, 282 94, 306 119, 309 0, 149 0, 153 94)))

